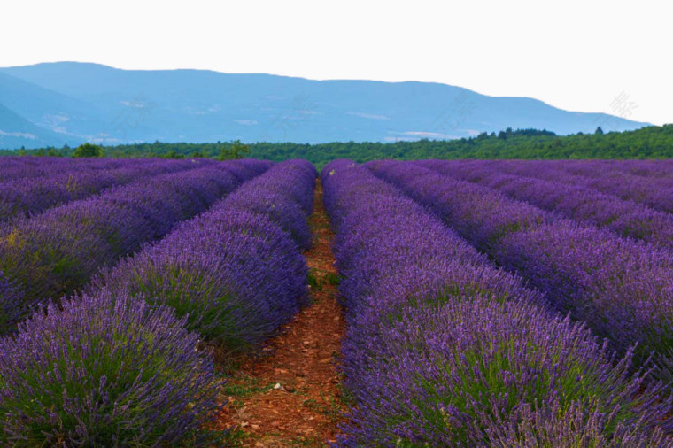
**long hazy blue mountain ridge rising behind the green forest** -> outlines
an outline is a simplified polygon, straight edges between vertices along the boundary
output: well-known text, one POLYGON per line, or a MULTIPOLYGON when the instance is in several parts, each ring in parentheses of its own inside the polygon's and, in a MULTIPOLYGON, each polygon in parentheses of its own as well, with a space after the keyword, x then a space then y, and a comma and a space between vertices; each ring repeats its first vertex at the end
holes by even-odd
MULTIPOLYGON (((71 145, 83 140, 107 145, 236 139, 399 142, 469 137, 507 127, 567 135, 593 132, 600 125, 613 131, 646 126, 437 83, 126 71, 72 62, 0 68, 0 104, 71 145)), ((4 120, 0 131, 17 133, 4 120)), ((26 138, 21 144, 33 148, 38 143, 26 138)))

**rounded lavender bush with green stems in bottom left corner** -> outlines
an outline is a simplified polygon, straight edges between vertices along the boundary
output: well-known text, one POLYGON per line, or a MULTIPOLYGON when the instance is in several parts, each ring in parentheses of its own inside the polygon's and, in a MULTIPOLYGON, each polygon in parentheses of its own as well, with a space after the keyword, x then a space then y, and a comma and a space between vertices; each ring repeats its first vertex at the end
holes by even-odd
POLYGON ((220 382, 183 324, 124 294, 36 313, 0 340, 0 444, 198 444, 220 382))

